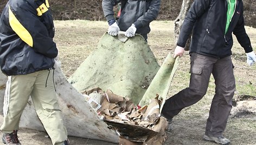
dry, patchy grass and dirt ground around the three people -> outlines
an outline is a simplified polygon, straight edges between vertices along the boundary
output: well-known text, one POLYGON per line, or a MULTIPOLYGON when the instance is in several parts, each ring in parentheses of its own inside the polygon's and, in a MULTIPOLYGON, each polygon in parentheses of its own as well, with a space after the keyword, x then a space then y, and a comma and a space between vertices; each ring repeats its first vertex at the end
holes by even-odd
MULTIPOLYGON (((55 21, 55 42, 59 48, 61 68, 68 78, 85 58, 97 47, 100 37, 107 31, 106 22, 101 21, 55 21)), ((256 47, 256 30, 246 27, 252 46, 256 47)), ((172 21, 151 23, 148 44, 159 64, 173 52, 174 25, 172 21)), ((255 51, 255 50, 254 50, 255 51)), ((247 66, 244 50, 235 41, 232 60, 236 78, 234 106, 224 135, 232 144, 256 144, 256 65, 247 66), (242 101, 244 100, 244 101, 242 101)), ((189 84, 189 54, 180 59, 179 68, 172 81, 169 96, 189 84)), ((214 79, 211 77, 207 94, 201 101, 185 108, 174 117, 173 130, 168 132, 165 144, 215 144, 203 141, 204 128, 214 95, 214 79)), ((2 122, 2 120, 0 120, 2 122)), ((18 136, 22 144, 51 144, 47 134, 21 128, 18 136)), ((114 144, 69 136, 71 144, 114 144)))

